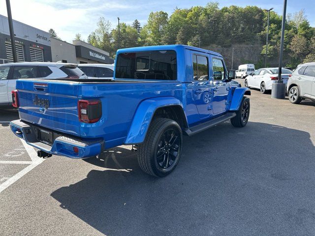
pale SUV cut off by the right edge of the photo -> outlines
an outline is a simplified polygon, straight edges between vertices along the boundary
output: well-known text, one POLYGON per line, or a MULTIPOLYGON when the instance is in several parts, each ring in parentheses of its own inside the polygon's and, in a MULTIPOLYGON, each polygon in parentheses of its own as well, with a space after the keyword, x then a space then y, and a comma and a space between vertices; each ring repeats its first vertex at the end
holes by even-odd
POLYGON ((315 101, 315 62, 298 65, 289 77, 287 91, 291 103, 305 98, 315 101))

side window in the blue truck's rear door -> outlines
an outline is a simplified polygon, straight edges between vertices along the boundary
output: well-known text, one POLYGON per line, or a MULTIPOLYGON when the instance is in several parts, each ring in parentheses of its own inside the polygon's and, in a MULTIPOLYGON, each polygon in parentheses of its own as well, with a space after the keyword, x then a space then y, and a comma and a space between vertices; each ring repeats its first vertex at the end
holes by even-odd
POLYGON ((193 79, 198 81, 209 80, 208 58, 199 55, 193 55, 193 79))

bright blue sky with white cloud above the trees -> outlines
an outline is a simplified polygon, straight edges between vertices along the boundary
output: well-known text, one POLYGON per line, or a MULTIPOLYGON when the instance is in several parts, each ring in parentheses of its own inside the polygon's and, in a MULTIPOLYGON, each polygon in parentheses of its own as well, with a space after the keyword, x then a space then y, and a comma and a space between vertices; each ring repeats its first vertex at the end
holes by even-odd
MULTIPOLYGON (((130 24, 138 19, 143 25, 151 11, 165 11, 169 15, 175 7, 189 8, 195 5, 206 5, 209 0, 11 0, 12 17, 15 20, 48 31, 53 28, 67 42, 71 42, 76 33, 86 39, 96 27, 97 19, 103 16, 117 24, 130 24), (34 12, 34 9, 36 11, 34 12)), ((283 0, 218 0, 220 7, 238 5, 256 5, 271 8, 282 14, 283 0)), ((311 26, 315 27, 314 0, 287 0, 287 13, 305 9, 311 26)), ((5 1, 0 1, 0 14, 7 16, 5 1), (2 7, 4 6, 4 7, 2 7)))

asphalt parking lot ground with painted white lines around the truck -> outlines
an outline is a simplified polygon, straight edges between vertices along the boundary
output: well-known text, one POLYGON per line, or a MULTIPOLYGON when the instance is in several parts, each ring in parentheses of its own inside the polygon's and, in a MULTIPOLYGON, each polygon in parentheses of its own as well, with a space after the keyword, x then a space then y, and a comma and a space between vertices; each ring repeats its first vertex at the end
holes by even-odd
POLYGON ((250 98, 245 128, 185 137, 164 178, 144 174, 130 147, 39 159, 10 131, 17 112, 0 110, 0 235, 314 236, 315 102, 250 98))

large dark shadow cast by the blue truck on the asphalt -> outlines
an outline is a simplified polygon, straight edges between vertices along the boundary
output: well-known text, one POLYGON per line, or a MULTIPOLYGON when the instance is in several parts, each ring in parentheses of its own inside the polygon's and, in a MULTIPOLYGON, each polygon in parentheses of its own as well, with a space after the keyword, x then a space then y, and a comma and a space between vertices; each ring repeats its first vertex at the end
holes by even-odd
POLYGON ((51 196, 109 236, 314 235, 314 153, 307 132, 224 122, 185 137, 167 177, 144 174, 135 153, 113 148, 105 161, 88 160, 104 170, 51 196))

